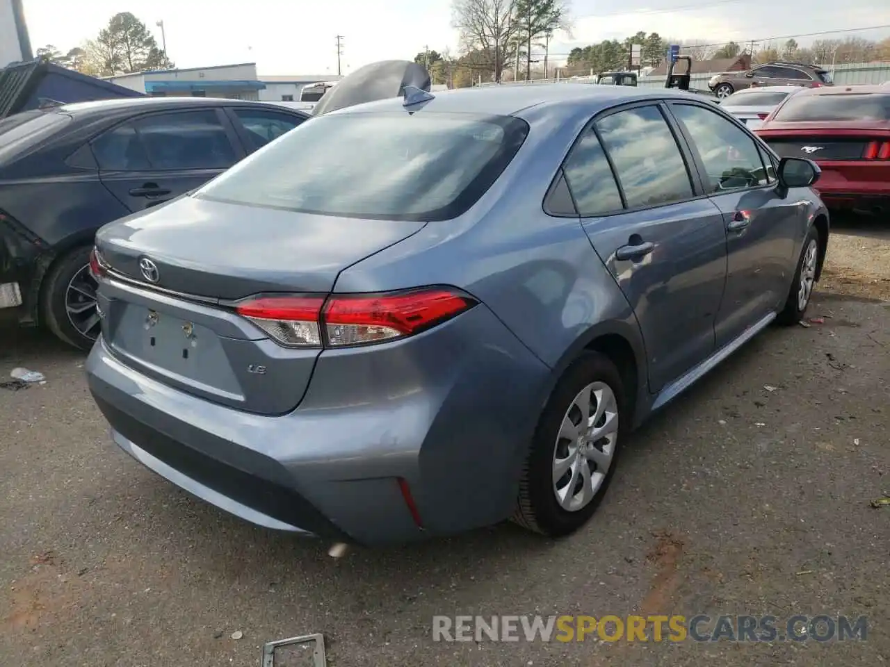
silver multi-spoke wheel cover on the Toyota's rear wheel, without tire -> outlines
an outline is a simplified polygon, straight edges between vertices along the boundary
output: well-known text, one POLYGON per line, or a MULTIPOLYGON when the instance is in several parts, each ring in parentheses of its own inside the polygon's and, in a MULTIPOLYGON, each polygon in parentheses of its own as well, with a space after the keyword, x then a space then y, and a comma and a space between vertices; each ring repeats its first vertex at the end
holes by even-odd
POLYGON ((609 472, 618 441, 618 400, 605 382, 578 392, 562 418, 553 457, 553 490, 566 511, 594 499, 609 472))

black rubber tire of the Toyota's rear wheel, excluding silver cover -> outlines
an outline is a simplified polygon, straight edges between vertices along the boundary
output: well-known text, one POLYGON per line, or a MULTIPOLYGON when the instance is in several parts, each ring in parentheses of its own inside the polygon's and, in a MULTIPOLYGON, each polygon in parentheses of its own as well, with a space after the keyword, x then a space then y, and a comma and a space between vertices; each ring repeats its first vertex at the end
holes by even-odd
POLYGON ((597 352, 587 352, 566 370, 538 421, 530 453, 522 470, 519 499, 512 518, 514 523, 549 537, 574 533, 587 523, 602 502, 615 474, 623 433, 628 426, 626 405, 621 376, 609 358, 597 352), (581 509, 570 511, 560 506, 554 493, 553 466, 557 436, 563 417, 578 392, 592 382, 603 382, 611 388, 617 404, 618 432, 612 449, 611 465, 593 498, 581 509))

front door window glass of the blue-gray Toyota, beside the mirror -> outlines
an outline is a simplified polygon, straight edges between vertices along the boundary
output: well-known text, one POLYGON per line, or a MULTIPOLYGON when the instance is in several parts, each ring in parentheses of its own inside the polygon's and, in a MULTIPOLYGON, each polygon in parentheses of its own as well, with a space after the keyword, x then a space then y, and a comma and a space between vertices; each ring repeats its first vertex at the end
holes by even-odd
POLYGON ((756 188, 769 182, 756 142, 747 133, 708 108, 689 104, 672 108, 699 150, 709 192, 756 188))

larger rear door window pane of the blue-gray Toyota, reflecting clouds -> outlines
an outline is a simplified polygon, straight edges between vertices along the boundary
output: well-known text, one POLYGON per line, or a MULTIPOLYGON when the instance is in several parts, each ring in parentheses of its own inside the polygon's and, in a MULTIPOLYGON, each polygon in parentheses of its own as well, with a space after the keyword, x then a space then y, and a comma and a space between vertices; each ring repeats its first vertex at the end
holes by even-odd
POLYGON ((615 165, 628 208, 693 197, 683 154, 658 107, 619 111, 597 121, 596 128, 615 165))

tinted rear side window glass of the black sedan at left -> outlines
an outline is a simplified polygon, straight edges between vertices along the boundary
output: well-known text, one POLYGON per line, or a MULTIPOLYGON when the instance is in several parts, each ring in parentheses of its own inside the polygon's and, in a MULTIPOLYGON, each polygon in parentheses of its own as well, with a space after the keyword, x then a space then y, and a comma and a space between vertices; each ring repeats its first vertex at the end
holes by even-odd
POLYGON ((214 110, 158 114, 117 125, 93 141, 100 169, 224 169, 237 161, 214 110))

